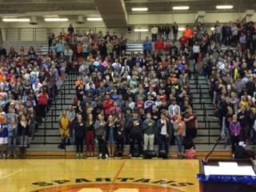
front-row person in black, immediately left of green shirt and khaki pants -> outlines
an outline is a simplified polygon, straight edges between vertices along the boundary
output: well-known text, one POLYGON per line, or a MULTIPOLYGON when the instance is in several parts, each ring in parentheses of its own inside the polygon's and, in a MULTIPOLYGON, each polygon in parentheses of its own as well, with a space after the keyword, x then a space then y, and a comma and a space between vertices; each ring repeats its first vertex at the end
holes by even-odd
POLYGON ((126 127, 130 130, 130 154, 132 158, 135 150, 135 141, 138 144, 138 156, 142 157, 142 120, 138 118, 138 114, 134 111, 133 118, 130 118, 126 124, 126 127))

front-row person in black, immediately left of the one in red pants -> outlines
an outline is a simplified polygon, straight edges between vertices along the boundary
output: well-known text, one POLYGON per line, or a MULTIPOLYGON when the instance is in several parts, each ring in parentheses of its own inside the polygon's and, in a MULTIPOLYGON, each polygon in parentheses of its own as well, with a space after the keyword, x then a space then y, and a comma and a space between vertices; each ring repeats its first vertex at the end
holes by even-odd
POLYGON ((77 148, 77 158, 83 158, 83 142, 86 138, 86 123, 82 121, 82 115, 78 115, 78 121, 74 123, 74 137, 77 148), (79 150, 80 148, 80 150, 79 150), (80 155, 79 155, 80 152, 80 155))

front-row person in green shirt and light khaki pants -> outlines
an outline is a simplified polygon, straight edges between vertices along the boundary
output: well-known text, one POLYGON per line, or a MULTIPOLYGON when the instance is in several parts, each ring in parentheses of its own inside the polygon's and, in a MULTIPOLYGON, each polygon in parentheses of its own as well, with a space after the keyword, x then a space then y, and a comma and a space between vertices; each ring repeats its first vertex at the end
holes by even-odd
POLYGON ((154 150, 154 133, 156 125, 151 118, 151 114, 146 114, 146 120, 143 122, 144 130, 144 150, 147 150, 148 143, 150 142, 150 150, 154 150))

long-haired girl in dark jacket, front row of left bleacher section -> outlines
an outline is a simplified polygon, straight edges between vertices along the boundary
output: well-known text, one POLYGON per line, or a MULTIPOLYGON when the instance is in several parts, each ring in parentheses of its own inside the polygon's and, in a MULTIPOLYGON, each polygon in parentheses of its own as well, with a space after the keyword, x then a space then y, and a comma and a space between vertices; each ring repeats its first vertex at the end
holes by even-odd
POLYGON ((18 122, 18 137, 20 139, 19 150, 21 158, 26 158, 26 142, 29 135, 29 129, 30 126, 26 121, 26 117, 22 114, 22 116, 20 116, 20 121, 18 122))

